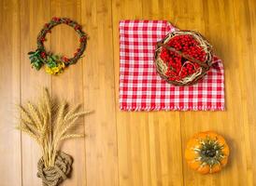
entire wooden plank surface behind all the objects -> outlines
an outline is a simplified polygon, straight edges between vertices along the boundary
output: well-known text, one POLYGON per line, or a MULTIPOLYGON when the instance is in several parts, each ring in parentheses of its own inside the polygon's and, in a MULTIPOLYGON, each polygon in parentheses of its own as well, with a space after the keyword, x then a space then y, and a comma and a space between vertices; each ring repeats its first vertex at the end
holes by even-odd
MULTIPOLYGON (((39 186, 37 144, 14 129, 15 104, 52 95, 83 102, 93 113, 80 120, 85 139, 62 145, 71 154, 72 186, 256 185, 255 0, 1 0, 0 186, 39 186), (90 40, 85 58, 59 76, 31 68, 27 52, 51 17, 78 20, 90 40), (225 67, 225 112, 126 113, 119 110, 119 21, 169 20, 197 30, 215 46, 225 67), (184 161, 186 141, 216 130, 230 147, 228 166, 201 176, 184 161)), ((78 37, 59 26, 47 47, 72 55, 78 37)))

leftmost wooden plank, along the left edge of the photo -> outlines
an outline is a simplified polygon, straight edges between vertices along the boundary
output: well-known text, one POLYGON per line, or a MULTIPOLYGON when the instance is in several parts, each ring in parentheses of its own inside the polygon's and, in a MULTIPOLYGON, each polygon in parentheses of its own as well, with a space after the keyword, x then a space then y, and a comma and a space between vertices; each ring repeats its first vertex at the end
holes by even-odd
POLYGON ((21 185, 21 133, 15 130, 20 103, 20 5, 0 2, 0 180, 2 186, 21 185))

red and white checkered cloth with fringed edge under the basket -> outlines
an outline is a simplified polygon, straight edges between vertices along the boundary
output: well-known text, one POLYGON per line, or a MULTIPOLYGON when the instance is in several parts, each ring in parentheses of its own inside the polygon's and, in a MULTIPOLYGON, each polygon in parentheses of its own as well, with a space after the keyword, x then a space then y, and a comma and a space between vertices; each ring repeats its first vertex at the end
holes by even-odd
POLYGON ((156 43, 175 30, 166 20, 121 20, 121 110, 224 110, 224 70, 218 58, 203 80, 192 86, 170 85, 156 73, 156 43))

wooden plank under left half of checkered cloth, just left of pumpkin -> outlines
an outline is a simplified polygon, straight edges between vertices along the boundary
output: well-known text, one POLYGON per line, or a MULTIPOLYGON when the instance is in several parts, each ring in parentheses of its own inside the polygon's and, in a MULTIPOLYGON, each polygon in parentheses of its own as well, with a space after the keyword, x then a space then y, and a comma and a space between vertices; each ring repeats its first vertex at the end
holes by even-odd
MULTIPOLYGON (((119 20, 171 18, 165 15, 172 10, 163 10, 164 5, 160 4, 160 1, 113 1, 116 87, 119 86, 119 20)), ((116 94, 118 102, 118 88, 116 94)), ((129 113, 118 108, 117 126, 121 185, 183 185, 179 113, 129 113), (173 146, 178 151, 172 151, 173 146)))

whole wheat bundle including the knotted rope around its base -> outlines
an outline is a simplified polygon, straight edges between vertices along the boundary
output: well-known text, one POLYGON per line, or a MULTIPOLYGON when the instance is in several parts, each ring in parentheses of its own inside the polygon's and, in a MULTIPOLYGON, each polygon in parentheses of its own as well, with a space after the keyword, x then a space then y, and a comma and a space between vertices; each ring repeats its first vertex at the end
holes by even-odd
POLYGON ((71 172, 71 156, 58 148, 63 140, 84 137, 74 132, 78 118, 89 113, 79 112, 80 106, 70 107, 64 100, 51 99, 47 88, 37 104, 20 105, 21 123, 17 127, 36 140, 43 153, 37 164, 43 186, 56 186, 71 172))

